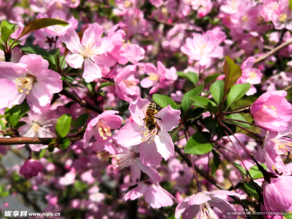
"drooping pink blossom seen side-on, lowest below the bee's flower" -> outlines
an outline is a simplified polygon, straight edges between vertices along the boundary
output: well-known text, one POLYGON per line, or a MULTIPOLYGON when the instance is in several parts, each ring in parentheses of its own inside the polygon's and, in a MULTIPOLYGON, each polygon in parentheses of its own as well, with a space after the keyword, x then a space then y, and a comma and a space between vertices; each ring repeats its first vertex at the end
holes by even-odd
POLYGON ((124 187, 135 184, 138 184, 138 186, 127 192, 124 197, 125 200, 134 200, 144 195, 145 201, 147 201, 147 203, 150 204, 152 208, 160 208, 173 205, 172 199, 174 199, 174 197, 169 192, 164 190, 160 185, 154 185, 150 181, 126 183, 124 184, 124 187))

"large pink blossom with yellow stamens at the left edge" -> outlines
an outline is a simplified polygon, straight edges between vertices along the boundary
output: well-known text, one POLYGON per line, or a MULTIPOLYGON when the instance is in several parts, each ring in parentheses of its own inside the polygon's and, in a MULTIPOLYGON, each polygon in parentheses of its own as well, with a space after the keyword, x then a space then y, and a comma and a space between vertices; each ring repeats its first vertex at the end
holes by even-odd
MULTIPOLYGON (((48 66, 47 60, 35 54, 22 56, 17 64, 0 62, 1 77, 15 83, 15 88, 7 87, 8 90, 2 91, 6 93, 18 90, 13 99, 5 101, 8 102, 8 107, 20 104, 27 98, 27 103, 34 112, 41 114, 48 112, 53 93, 62 90, 61 75, 48 69, 48 66)), ((7 98, 11 98, 11 95, 7 98)))

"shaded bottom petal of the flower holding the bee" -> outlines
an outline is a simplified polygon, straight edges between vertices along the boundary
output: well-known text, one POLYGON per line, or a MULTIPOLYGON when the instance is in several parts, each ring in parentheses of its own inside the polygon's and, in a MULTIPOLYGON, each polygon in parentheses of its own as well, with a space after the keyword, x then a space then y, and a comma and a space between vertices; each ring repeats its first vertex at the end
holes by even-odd
POLYGON ((140 160, 146 166, 158 166, 161 163, 162 157, 154 141, 140 144, 140 160))

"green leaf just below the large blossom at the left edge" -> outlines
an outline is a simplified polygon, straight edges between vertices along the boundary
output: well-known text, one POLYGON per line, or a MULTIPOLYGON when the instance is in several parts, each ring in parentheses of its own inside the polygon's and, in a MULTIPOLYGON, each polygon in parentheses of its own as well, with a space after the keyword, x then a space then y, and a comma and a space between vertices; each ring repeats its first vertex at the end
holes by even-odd
POLYGON ((20 105, 15 105, 11 109, 5 112, 11 116, 6 117, 6 121, 10 123, 11 127, 16 126, 19 120, 30 110, 27 102, 22 102, 20 105))

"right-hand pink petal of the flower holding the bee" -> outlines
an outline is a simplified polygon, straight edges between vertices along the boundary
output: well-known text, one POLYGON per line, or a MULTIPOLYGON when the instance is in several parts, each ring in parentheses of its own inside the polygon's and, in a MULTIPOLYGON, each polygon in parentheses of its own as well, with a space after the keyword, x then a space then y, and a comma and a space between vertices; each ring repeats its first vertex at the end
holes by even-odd
POLYGON ((180 110, 173 109, 170 105, 161 109, 157 113, 157 124, 160 127, 161 131, 168 132, 171 131, 178 125, 178 120, 180 119, 180 110))

